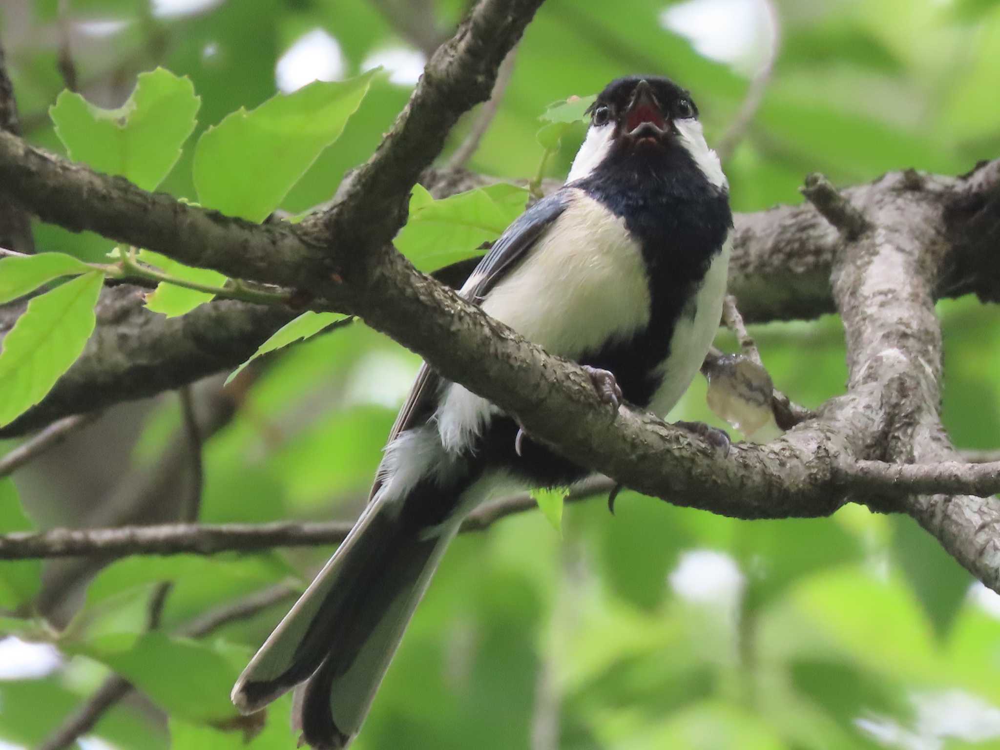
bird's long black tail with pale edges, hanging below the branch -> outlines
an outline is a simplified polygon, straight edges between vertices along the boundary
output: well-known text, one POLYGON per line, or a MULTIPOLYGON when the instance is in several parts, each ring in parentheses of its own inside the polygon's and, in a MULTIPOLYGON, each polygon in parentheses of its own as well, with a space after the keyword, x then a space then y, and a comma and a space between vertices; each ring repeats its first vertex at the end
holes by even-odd
MULTIPOLYGON (((440 493, 435 488, 435 494, 440 493)), ((323 750, 357 733, 403 631, 457 530, 399 511, 422 497, 368 506, 351 533, 233 687, 244 713, 305 680, 293 722, 323 750)), ((419 514, 423 515, 423 514, 419 514)))

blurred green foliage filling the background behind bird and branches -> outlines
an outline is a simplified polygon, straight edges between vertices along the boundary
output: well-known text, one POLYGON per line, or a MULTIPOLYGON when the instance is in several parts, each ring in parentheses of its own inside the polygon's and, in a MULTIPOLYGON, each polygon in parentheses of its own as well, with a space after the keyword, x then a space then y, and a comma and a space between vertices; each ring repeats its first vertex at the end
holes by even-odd
MULTIPOLYGON (((612 77, 640 71, 689 87, 709 140, 718 141, 749 80, 666 28, 668 5, 549 0, 468 166, 524 184, 551 150, 546 175, 564 175, 583 129, 557 113, 550 119, 558 129, 550 125, 536 138, 540 115, 554 101, 586 97, 612 77)), ((442 29, 464 6, 429 3, 442 29)), ((412 86, 390 75, 356 78, 378 53, 414 51, 404 25, 370 0, 228 0, 175 16, 155 7, 14 0, 0 8, 0 36, 33 143, 260 220, 276 207, 298 214, 328 200, 391 127, 412 86), (82 99, 60 94, 53 41, 62 33, 60 12, 74 24, 122 22, 74 32, 82 99), (279 58, 316 28, 336 39, 339 77, 352 80, 273 99, 279 58)), ((408 3, 399 9, 412 12, 408 3)), ((956 173, 997 155, 996 0, 780 0, 776 10, 782 41, 774 73, 725 164, 738 210, 797 202, 803 175, 814 170, 843 184, 902 167, 956 173)), ((451 134, 446 157, 473 120, 451 134)), ((425 270, 468 257, 526 198, 525 190, 500 185, 435 201, 417 188, 400 249, 425 270)), ((111 249, 99 237, 47 225, 36 227, 36 241, 90 262, 107 262, 111 249)), ((58 268, 50 274, 39 266, 18 283, 27 289, 56 272, 80 272, 72 261, 43 263, 58 268)), ((74 283, 56 292, 71 292, 74 283)), ((180 314, 207 299, 181 297, 162 311, 180 314)), ((947 427, 959 446, 995 448, 996 310, 961 299, 939 311, 947 427)), ((307 319, 285 338, 317 333, 326 322, 307 319)), ((793 399, 818 406, 842 392, 838 320, 752 332, 776 384, 793 399)), ((718 343, 734 342, 723 333, 718 343)), ((360 323, 262 359, 235 416, 204 446, 201 518, 353 517, 418 361, 360 323)), ((718 424, 704 392, 696 382, 675 416, 718 424)), ((107 460, 152 466, 179 424, 175 400, 163 398, 131 458, 107 460)), ((829 519, 746 523, 625 492, 614 517, 601 499, 569 503, 561 526, 560 538, 541 513, 529 513, 455 542, 358 748, 1000 746, 994 595, 970 597, 968 575, 908 519, 848 506, 829 519)), ((14 483, 0 482, 0 530, 27 528, 14 483)), ((98 575, 61 633, 32 619, 41 566, 0 563, 0 608, 9 615, 0 632, 53 641, 66 660, 46 677, 0 680, 0 740, 38 743, 111 669, 167 712, 169 724, 129 703, 107 713, 94 736, 122 750, 244 746, 229 686, 283 605, 203 641, 167 633, 277 581, 300 586, 329 552, 122 560, 98 575), (144 633, 149 594, 165 580, 173 589, 164 631, 144 633)), ((251 748, 292 746, 288 704, 269 710, 251 748)))

